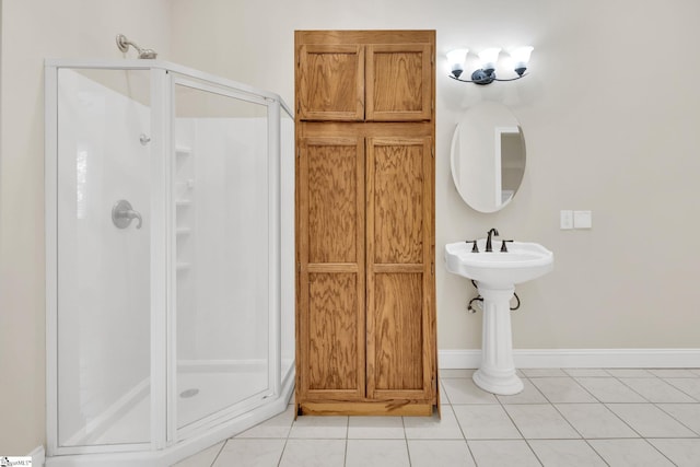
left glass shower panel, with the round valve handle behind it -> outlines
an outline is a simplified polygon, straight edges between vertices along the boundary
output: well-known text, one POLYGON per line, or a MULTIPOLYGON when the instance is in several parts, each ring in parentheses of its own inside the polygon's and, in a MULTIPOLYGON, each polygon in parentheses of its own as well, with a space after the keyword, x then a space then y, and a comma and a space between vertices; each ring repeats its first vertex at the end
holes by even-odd
POLYGON ((58 447, 151 440, 150 73, 59 69, 58 447))

